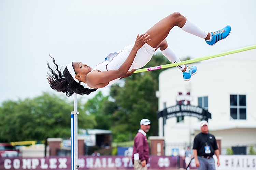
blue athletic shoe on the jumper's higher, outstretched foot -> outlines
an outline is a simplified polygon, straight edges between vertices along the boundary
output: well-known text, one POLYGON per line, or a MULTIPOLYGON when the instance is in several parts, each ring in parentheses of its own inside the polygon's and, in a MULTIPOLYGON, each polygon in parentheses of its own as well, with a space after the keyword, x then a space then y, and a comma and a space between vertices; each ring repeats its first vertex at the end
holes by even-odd
POLYGON ((205 42, 207 44, 209 44, 210 46, 213 46, 218 41, 227 38, 229 36, 230 32, 231 32, 231 27, 229 25, 227 25, 226 27, 224 27, 221 30, 211 32, 212 40, 211 41, 205 40, 205 42))

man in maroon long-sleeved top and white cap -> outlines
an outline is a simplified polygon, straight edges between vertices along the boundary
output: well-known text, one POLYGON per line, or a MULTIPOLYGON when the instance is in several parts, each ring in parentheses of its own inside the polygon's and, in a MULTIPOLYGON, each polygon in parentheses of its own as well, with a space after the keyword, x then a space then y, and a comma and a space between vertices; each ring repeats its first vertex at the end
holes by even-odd
POLYGON ((147 142, 147 132, 150 130, 150 120, 142 119, 140 129, 134 138, 132 161, 134 170, 147 170, 149 159, 149 147, 147 142))

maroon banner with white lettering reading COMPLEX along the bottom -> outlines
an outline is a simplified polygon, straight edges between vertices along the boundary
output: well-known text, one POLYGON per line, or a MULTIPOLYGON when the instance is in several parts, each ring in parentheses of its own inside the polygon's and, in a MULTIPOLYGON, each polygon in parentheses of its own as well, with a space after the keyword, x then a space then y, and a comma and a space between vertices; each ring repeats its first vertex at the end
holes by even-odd
MULTIPOLYGON (((148 169, 179 168, 179 157, 150 156, 148 169)), ((182 159, 181 159, 182 160, 182 159)), ((125 156, 79 156, 78 169, 107 170, 107 169, 133 169, 131 157, 125 156)), ((45 158, 0 158, 1 170, 22 169, 55 169, 66 170, 71 168, 71 157, 45 157, 45 158)), ((181 167, 183 168, 183 167, 181 167)))

